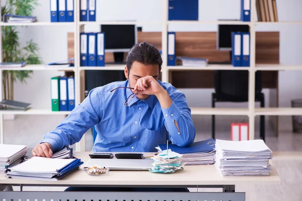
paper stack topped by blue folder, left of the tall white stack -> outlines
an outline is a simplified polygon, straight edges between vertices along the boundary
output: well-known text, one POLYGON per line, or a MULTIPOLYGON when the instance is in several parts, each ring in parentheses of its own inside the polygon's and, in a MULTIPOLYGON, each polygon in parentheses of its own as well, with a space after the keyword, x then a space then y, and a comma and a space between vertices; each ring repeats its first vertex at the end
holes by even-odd
MULTIPOLYGON (((182 155, 182 162, 186 165, 210 165, 215 162, 215 140, 210 138, 207 140, 194 142, 187 147, 179 147, 169 144, 169 149, 182 155)), ((166 144, 159 144, 157 147, 159 153, 167 149, 166 144)))

